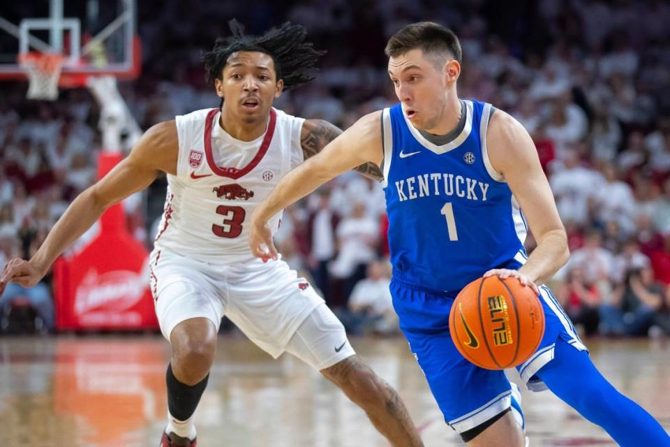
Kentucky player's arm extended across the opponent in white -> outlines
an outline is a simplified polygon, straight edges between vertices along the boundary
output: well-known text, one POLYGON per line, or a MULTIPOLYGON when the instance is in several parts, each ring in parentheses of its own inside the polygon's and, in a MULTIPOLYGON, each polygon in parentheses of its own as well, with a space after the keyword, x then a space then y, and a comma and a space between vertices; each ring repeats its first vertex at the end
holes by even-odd
POLYGON ((281 179, 251 215, 249 245, 254 256, 277 258, 271 231, 267 227, 267 221, 274 214, 347 170, 369 162, 380 165, 383 156, 381 116, 380 111, 365 115, 329 142, 321 152, 306 159, 281 179))

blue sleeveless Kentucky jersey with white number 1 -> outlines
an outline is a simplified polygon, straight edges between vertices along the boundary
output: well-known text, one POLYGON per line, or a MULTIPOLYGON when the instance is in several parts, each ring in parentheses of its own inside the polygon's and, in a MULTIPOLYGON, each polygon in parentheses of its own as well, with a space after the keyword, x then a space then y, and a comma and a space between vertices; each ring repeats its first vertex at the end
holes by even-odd
POLYGON ((461 103, 463 130, 441 146, 412 126, 401 104, 382 114, 394 279, 433 291, 458 291, 526 259, 526 222, 486 152, 491 104, 461 103))

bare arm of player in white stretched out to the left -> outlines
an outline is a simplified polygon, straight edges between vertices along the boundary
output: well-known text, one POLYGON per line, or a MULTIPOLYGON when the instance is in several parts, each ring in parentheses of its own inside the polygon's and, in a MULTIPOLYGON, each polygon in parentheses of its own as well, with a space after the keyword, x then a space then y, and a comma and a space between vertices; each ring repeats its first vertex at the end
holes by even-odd
POLYGON ((151 127, 126 159, 73 200, 30 261, 15 258, 5 265, 0 276, 0 295, 8 282, 24 287, 37 284, 54 260, 91 228, 107 208, 149 186, 159 171, 174 173, 177 154, 174 121, 151 127))

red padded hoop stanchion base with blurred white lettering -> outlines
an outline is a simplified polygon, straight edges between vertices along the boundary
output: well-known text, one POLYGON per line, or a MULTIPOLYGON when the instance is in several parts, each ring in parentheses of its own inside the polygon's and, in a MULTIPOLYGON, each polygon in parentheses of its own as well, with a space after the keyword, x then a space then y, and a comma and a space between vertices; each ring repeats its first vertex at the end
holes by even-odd
MULTIPOLYGON (((121 158, 120 154, 102 154, 98 178, 121 158)), ((149 290, 149 254, 127 232, 121 203, 110 207, 100 223, 100 232, 84 249, 54 263, 56 327, 158 328, 149 290)))

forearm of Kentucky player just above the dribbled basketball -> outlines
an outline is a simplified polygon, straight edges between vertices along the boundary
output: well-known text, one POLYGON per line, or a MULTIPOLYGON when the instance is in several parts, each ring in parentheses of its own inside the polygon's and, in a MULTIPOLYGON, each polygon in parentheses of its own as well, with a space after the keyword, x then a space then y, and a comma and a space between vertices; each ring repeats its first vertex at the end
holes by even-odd
POLYGON ((519 272, 526 274, 535 284, 543 284, 565 265, 568 256, 565 231, 550 231, 538 241, 537 247, 519 272))

